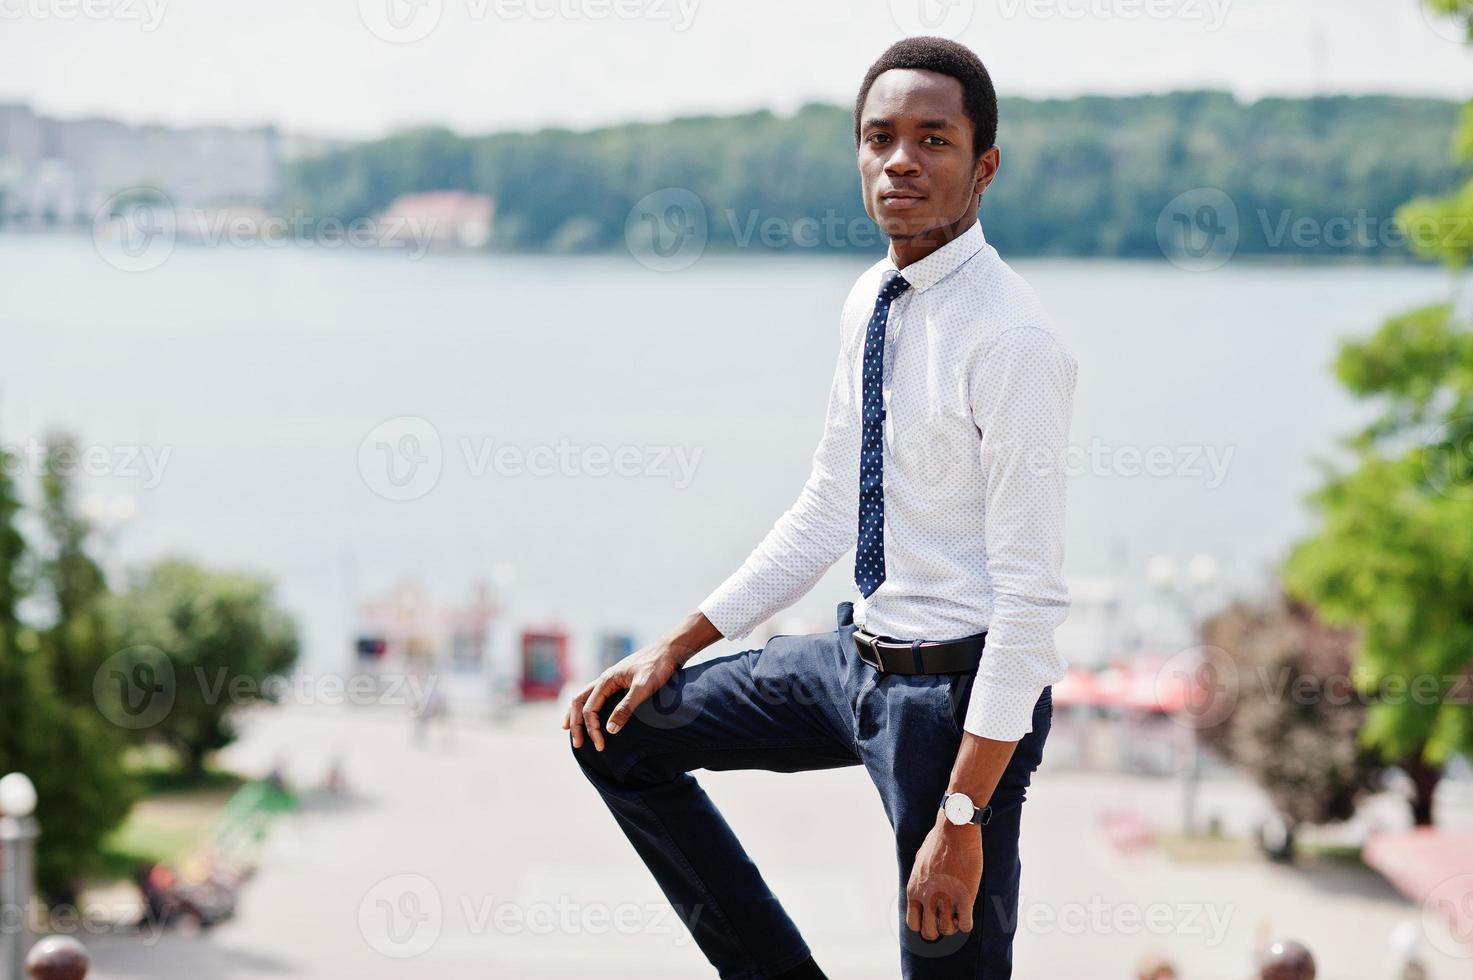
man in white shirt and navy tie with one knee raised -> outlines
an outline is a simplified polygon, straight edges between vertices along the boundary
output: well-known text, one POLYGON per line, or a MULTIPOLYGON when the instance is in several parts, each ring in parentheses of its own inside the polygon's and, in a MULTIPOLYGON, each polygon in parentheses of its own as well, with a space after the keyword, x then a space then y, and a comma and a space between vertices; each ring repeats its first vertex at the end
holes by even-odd
POLYGON ((854 140, 890 251, 844 304, 812 475, 698 612, 563 719, 722 977, 823 973, 698 768, 863 765, 896 833, 904 977, 1012 973, 1021 808, 1065 669, 1053 629, 1068 609, 1075 361, 982 237, 996 134, 991 80, 960 44, 907 38, 871 66, 854 140), (859 597, 840 604, 837 631, 683 666, 794 603, 850 548, 859 597), (673 707, 655 712, 657 691, 673 707))

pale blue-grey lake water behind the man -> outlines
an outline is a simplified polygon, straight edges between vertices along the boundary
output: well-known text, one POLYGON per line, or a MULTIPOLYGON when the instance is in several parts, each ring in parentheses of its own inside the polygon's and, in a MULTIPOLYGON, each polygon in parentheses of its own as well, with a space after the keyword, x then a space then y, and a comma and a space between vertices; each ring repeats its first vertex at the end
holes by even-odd
MULTIPOLYGON (((181 245, 124 273, 84 236, 0 237, 0 441, 63 427, 112 460, 88 486, 137 514, 109 564, 183 553, 275 576, 315 669, 343 663, 359 600, 402 578, 458 598, 496 567, 508 623, 561 620, 585 648, 650 637, 795 498, 869 261, 663 274, 181 245), (168 454, 161 476, 134 447, 168 454), (401 451, 421 469, 386 469, 401 451)), ((1371 411, 1335 383, 1336 340, 1448 292, 1430 268, 1015 267, 1080 363, 1066 572, 1131 588, 1158 553, 1261 588, 1312 526, 1311 458, 1371 411)), ((795 615, 829 628, 846 566, 795 615)))

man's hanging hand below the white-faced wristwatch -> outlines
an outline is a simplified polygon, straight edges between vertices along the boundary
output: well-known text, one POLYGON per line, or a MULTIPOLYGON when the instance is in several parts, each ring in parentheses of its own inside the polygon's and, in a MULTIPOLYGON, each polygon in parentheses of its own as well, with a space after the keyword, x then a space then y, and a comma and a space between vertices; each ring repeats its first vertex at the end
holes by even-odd
POLYGON ((906 884, 906 925, 934 942, 972 931, 972 905, 982 887, 982 828, 957 827, 937 809, 935 827, 916 852, 906 884))

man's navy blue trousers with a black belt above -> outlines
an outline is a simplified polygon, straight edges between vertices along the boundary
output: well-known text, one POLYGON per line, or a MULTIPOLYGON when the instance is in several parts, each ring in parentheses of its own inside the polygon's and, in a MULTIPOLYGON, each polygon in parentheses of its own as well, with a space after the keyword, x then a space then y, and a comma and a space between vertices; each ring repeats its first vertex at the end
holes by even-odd
MULTIPOLYGON (((881 675, 854 653, 853 632, 853 604, 841 603, 834 632, 773 637, 760 650, 685 666, 605 735, 604 752, 585 737, 573 755, 720 977, 766 980, 810 953, 691 771, 863 765, 896 833, 901 976, 1008 980, 1022 871, 1018 827, 1043 760, 1053 691, 1040 696, 1033 731, 988 800, 972 931, 927 942, 904 923, 904 889, 960 747, 974 675, 881 675)), ((604 704, 601 722, 617 703, 604 704)))

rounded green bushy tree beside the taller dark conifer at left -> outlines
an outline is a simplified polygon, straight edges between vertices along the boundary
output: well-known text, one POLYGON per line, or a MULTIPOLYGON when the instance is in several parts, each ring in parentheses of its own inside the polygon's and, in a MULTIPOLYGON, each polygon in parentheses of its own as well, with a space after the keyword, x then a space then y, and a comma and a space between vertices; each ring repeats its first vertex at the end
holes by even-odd
POLYGON ((191 777, 205 772, 209 753, 236 738, 233 709, 271 700, 271 678, 296 663, 296 625, 274 603, 270 581, 245 573, 209 572, 169 559, 136 576, 115 597, 108 615, 118 638, 116 676, 108 712, 130 712, 124 699, 131 678, 156 716, 138 715, 144 734, 178 752, 191 777), (137 673, 141 671, 141 675, 137 673), (162 700, 155 700, 162 699, 162 700))

